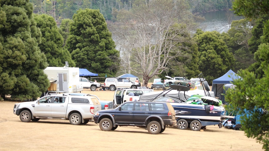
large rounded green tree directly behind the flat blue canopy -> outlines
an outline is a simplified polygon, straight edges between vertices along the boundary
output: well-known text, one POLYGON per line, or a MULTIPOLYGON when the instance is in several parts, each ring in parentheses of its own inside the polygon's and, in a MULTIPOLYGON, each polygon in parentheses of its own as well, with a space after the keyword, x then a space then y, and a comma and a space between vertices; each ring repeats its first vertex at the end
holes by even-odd
MULTIPOLYGON (((79 68, 115 76, 119 51, 99 10, 78 10, 73 16, 66 47, 79 68)), ((102 75, 102 74, 101 74, 102 75)))

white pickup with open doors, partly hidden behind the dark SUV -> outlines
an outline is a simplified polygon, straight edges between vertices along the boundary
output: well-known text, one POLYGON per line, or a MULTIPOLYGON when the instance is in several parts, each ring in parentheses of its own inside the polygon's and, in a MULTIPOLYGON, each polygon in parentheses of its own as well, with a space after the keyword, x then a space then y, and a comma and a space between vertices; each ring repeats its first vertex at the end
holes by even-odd
POLYGON ((122 89, 116 90, 114 93, 114 107, 121 105, 126 101, 137 101, 140 95, 153 92, 153 89, 122 89))

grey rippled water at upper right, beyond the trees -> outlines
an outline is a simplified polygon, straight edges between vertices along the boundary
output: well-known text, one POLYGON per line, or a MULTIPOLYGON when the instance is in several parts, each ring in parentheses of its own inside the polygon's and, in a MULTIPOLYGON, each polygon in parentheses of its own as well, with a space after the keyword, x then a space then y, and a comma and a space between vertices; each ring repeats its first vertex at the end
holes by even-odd
MULTIPOLYGON (((230 21, 243 19, 242 16, 235 16, 232 11, 230 13, 230 21)), ((206 12, 202 13, 201 16, 205 18, 205 21, 201 22, 198 28, 203 31, 218 31, 222 33, 229 30, 229 19, 226 11, 206 12)))

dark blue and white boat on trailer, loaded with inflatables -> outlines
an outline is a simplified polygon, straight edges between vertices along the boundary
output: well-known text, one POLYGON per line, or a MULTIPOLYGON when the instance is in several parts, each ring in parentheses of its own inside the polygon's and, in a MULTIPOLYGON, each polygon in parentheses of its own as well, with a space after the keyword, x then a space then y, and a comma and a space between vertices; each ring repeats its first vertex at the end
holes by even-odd
MULTIPOLYGON (((189 91, 190 88, 172 84, 170 85, 170 88, 165 91, 169 92, 171 90, 189 91)), ((207 125, 218 125, 219 128, 221 128, 222 121, 231 117, 225 116, 224 107, 222 105, 217 106, 217 104, 221 103, 215 103, 215 101, 218 102, 218 100, 214 97, 211 97, 211 99, 209 96, 196 97, 196 100, 191 97, 190 103, 188 100, 184 102, 181 101, 180 98, 165 96, 166 93, 161 94, 162 97, 155 97, 153 101, 170 102, 176 113, 177 127, 181 130, 185 130, 189 126, 191 130, 198 131, 200 129, 204 129, 207 125)))

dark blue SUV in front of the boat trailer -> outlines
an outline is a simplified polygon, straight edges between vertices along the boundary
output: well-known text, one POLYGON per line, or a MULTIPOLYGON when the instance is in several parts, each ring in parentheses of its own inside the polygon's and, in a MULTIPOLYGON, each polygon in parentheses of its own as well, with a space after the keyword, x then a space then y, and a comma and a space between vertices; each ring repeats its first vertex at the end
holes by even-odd
POLYGON ((118 126, 144 127, 150 134, 162 133, 166 125, 175 125, 175 111, 169 102, 129 101, 115 109, 95 113, 94 122, 101 130, 118 126))

